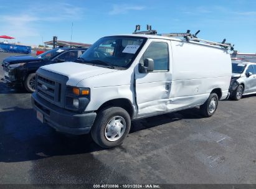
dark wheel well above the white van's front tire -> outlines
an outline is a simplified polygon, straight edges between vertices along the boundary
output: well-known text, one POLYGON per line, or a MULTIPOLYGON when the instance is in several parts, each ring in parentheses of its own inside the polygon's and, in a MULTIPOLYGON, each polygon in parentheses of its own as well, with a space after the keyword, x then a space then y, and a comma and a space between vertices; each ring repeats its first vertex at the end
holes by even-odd
POLYGON ((126 98, 111 99, 110 101, 107 101, 104 104, 102 104, 102 106, 98 108, 97 112, 108 106, 116 106, 123 108, 128 112, 128 114, 130 114, 131 118, 133 117, 133 105, 131 104, 131 101, 126 98))

